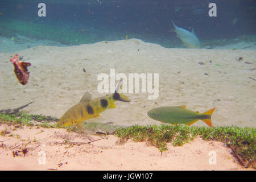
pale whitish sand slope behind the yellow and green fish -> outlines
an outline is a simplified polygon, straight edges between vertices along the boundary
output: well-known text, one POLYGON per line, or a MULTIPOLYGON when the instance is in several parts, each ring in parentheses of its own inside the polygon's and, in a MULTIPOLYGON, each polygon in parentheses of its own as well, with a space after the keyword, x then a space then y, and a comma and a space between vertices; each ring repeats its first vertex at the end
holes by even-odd
MULTIPOLYGON (((138 39, 1 53, 0 109, 33 102, 23 111, 60 118, 80 101, 84 92, 89 91, 93 98, 102 96, 97 92, 97 76, 115 68, 116 74, 159 73, 159 98, 148 100, 148 94, 126 94, 131 102, 116 102, 115 109, 104 111, 92 121, 125 126, 160 124, 147 117, 148 110, 187 105, 187 109, 200 112, 216 107, 213 126, 255 127, 256 92, 252 78, 256 78, 256 70, 251 70, 256 68, 255 57, 255 50, 171 49, 138 39), (18 82, 9 61, 15 53, 32 64, 25 86, 18 82), (237 61, 238 56, 243 60, 237 61)), ((202 121, 195 125, 206 126, 202 121)))

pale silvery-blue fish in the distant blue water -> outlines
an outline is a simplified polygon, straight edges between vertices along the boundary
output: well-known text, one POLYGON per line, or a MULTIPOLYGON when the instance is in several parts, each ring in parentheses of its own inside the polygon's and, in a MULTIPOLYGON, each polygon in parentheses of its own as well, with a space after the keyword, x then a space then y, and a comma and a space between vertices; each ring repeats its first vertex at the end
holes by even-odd
POLYGON ((179 28, 175 25, 174 21, 172 21, 175 27, 175 32, 177 36, 179 36, 180 40, 185 44, 185 46, 189 48, 200 48, 200 41, 195 35, 194 29, 192 32, 189 32, 183 28, 179 28))

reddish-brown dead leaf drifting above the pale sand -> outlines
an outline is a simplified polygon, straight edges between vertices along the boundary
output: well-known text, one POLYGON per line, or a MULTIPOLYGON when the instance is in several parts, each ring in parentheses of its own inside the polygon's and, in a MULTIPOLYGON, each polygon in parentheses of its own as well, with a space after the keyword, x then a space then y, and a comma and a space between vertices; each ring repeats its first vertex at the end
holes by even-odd
POLYGON ((14 55, 13 59, 10 59, 11 63, 14 65, 14 73, 18 78, 20 84, 26 85, 28 78, 30 77, 30 72, 28 72, 27 67, 30 67, 31 63, 26 63, 18 59, 18 55, 14 55))

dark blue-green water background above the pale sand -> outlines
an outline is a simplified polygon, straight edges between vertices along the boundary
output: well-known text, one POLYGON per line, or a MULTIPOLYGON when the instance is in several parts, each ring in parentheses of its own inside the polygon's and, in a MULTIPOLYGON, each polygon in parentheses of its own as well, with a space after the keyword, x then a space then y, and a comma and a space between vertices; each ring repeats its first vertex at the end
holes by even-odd
MULTIPOLYGON (((94 43, 104 40, 137 38, 164 47, 183 47, 173 32, 171 20, 177 26, 192 31, 204 45, 222 40, 251 41, 256 34, 256 1, 0 1, 0 36, 15 34, 48 39, 66 45, 94 43), (38 4, 46 4, 46 17, 38 16, 38 4), (59 3, 61 2, 61 3, 59 3), (217 17, 210 17, 209 3, 217 5, 217 17), (17 28, 5 26, 15 20, 17 28), (25 23, 25 24, 24 24, 25 23), (33 23, 33 24, 26 24, 33 23), (35 28, 35 25, 39 27, 35 28), (24 29, 31 26, 31 32, 24 29), (47 26, 44 28, 44 26, 47 26), (61 38, 55 34, 60 30, 61 38), (68 32, 71 32, 69 34, 68 32), (65 35, 67 34, 67 35, 65 35), (126 36, 127 35, 127 36, 126 36), (71 36, 71 37, 69 37, 71 36), (67 37, 67 39, 65 39, 67 37)), ((30 27, 29 27, 30 28, 30 27)))

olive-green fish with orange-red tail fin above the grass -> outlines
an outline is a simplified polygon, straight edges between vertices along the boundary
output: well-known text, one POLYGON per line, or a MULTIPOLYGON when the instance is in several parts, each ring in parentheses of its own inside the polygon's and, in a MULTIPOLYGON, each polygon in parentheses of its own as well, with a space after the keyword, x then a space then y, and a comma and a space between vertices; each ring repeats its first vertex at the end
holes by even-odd
POLYGON ((207 123, 208 126, 212 126, 210 118, 214 109, 215 108, 200 114, 199 112, 186 109, 186 106, 163 106, 151 109, 148 111, 147 115, 157 121, 171 124, 183 123, 185 125, 192 125, 201 119, 203 122, 207 123))

